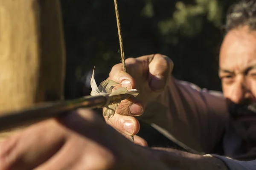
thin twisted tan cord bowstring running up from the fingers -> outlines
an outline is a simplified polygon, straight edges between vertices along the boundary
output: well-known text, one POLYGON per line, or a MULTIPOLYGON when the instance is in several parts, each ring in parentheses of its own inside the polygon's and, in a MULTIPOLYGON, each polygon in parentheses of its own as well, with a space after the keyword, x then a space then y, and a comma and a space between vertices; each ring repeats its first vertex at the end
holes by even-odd
MULTIPOLYGON (((126 72, 125 51, 124 51, 123 42, 122 42, 122 32, 121 32, 121 26, 120 26, 120 20, 119 20, 117 0, 114 0, 114 3, 115 3, 115 11, 116 11, 116 23, 117 23, 117 31, 118 31, 119 44, 120 44, 120 52, 121 52, 121 61, 122 61, 123 71, 126 72)), ((134 142, 133 136, 131 136, 131 142, 134 142)))

